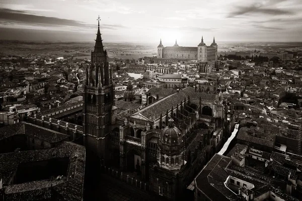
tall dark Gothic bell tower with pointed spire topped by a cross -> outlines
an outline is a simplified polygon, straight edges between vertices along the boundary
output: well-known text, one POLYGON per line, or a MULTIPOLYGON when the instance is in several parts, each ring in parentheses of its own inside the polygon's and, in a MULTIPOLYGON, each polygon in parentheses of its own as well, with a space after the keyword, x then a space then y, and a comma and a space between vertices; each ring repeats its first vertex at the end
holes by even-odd
POLYGON ((109 69, 107 52, 102 43, 100 22, 95 41, 94 51, 91 52, 91 65, 86 69, 84 86, 84 143, 88 151, 94 152, 106 163, 115 96, 112 70, 109 69))

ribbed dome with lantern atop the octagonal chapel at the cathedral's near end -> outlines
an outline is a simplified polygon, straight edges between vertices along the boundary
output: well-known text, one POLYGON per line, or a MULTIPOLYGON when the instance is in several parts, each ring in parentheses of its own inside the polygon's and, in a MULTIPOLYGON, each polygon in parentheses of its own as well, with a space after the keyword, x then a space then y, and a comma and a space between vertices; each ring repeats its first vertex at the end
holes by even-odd
POLYGON ((161 143, 166 145, 180 145, 182 143, 182 135, 180 130, 173 125, 173 119, 169 119, 169 125, 161 132, 161 143))

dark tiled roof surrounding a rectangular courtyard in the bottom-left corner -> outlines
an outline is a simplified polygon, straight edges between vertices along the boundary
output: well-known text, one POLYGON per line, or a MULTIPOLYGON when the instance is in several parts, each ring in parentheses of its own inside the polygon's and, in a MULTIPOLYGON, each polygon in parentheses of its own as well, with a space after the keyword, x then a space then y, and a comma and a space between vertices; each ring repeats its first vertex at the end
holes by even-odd
POLYGON ((85 148, 70 142, 56 148, 0 155, 0 177, 8 200, 35 200, 40 196, 50 198, 58 195, 66 200, 83 200, 84 170, 85 148), (66 177, 8 185, 21 163, 63 157, 68 157, 66 177))

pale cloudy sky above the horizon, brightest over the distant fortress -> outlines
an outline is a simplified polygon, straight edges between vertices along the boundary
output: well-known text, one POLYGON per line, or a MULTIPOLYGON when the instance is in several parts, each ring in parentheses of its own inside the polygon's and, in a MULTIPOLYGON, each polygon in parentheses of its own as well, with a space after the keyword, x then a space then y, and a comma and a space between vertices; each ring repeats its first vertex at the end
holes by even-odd
POLYGON ((0 0, 0 39, 197 46, 302 41, 302 0, 0 0))

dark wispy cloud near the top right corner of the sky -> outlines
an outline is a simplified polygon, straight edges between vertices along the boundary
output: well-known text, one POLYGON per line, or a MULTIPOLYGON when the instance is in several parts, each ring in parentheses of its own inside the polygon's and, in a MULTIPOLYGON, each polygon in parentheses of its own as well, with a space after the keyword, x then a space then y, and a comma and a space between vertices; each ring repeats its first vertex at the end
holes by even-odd
POLYGON ((251 5, 251 6, 237 6, 235 11, 232 11, 228 14, 228 18, 234 18, 237 16, 245 15, 245 14, 264 14, 264 15, 292 15, 293 12, 285 10, 285 9, 278 9, 278 8, 262 8, 262 5, 251 5))

